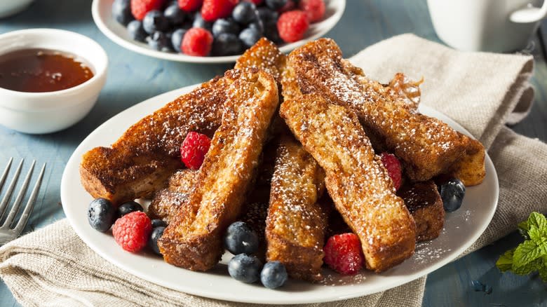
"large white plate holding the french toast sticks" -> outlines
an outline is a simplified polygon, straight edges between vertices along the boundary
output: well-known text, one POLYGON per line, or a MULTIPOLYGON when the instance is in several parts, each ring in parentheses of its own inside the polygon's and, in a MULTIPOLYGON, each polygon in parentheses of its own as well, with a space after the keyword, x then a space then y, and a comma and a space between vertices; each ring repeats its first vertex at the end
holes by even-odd
MULTIPOLYGON (((414 256, 385 273, 363 270, 355 276, 343 276, 325 269, 327 277, 323 283, 288 280, 280 289, 271 290, 259 283, 250 285, 230 278, 226 266, 229 254, 224 254, 221 263, 211 271, 200 273, 171 266, 161 257, 147 252, 126 252, 116 245, 111 233, 100 233, 88 224, 86 211, 92 198, 80 184, 81 156, 95 146, 109 146, 140 118, 192 88, 194 86, 152 97, 100 125, 76 148, 62 175, 62 207, 74 231, 104 259, 144 280, 189 294, 247 303, 316 303, 349 299, 403 285, 449 263, 477 240, 494 215, 498 200, 498 179, 492 161, 486 156, 484 182, 468 187, 461 208, 446 214, 441 235, 430 242, 418 244, 414 256)), ((468 134, 447 116, 425 106, 420 110, 468 134)))

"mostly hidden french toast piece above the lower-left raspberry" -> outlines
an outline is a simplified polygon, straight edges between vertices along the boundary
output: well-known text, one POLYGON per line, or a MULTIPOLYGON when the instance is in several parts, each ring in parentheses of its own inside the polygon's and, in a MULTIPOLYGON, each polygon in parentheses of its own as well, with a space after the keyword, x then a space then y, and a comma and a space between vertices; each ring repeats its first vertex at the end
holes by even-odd
POLYGON ((168 179, 165 189, 154 193, 154 197, 148 206, 148 215, 151 219, 161 219, 170 224, 177 215, 178 208, 186 205, 189 193, 194 187, 197 170, 177 170, 168 179))

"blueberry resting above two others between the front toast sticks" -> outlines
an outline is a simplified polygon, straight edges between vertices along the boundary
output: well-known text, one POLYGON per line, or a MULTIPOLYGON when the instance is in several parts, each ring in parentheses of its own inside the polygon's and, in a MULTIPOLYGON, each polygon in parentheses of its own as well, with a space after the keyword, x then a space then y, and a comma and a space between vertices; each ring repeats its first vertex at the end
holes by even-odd
POLYGON ((252 254, 258 250, 257 233, 243 221, 236 221, 226 230, 224 246, 232 254, 252 254))

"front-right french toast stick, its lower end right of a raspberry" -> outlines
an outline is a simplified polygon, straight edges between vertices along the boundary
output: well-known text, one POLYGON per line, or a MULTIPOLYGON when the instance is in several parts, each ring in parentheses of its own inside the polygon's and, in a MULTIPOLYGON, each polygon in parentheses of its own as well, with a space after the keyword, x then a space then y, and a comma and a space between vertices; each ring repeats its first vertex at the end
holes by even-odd
POLYGON ((381 272, 414 253, 416 225, 353 111, 321 95, 281 104, 281 117, 325 170, 325 186, 359 237, 366 267, 381 272))

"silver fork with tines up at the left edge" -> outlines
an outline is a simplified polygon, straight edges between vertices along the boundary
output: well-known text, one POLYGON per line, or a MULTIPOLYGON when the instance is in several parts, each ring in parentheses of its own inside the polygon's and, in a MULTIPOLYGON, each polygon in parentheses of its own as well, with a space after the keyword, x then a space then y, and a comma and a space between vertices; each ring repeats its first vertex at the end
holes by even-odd
MULTIPOLYGON (((4 172, 2 173, 0 177, 0 192, 4 186, 4 182, 6 182, 6 177, 8 177, 8 172, 11 168, 12 162, 13 162, 13 158, 10 158, 10 161, 8 161, 8 165, 6 165, 6 168, 4 169, 4 172)), ((8 186, 8 191, 6 191, 6 194, 4 195, 4 198, 2 198, 2 201, 0 203, 0 221, 4 217, 4 214, 6 213, 9 200, 11 200, 13 189, 15 189, 15 184, 17 184, 17 180, 21 172, 22 163, 23 163, 23 159, 21 159, 21 162, 19 163, 17 170, 15 170, 15 175, 13 175, 13 179, 11 179, 11 183, 8 186)), ((17 238, 20 235, 23 228, 25 228, 27 221, 29 221, 30 212, 32 212, 32 208, 34 207, 34 202, 36 201, 36 196, 38 196, 38 191, 40 190, 42 177, 43 177, 43 171, 46 169, 46 163, 43 163, 42 169, 40 171, 40 175, 38 175, 36 184, 34 184, 34 188, 32 189, 32 192, 29 196, 29 200, 27 200, 27 204, 25 205, 23 212, 17 221, 17 224, 15 224, 14 219, 19 211, 19 207, 21 206, 21 202, 23 198, 25 198, 25 193, 27 193, 27 188, 29 187, 30 178, 32 177, 32 171, 34 170, 35 164, 36 164, 36 161, 32 161, 32 165, 30 165, 29 172, 27 173, 27 176, 25 177, 25 182, 23 182, 21 189, 19 190, 19 193, 17 197, 15 198, 15 202, 11 206, 11 210, 8 213, 8 217, 6 217, 6 220, 4 220, 4 224, 0 226, 0 245, 4 245, 5 243, 8 243, 9 241, 17 238), (15 224, 13 228, 12 228, 12 224, 15 224)))

